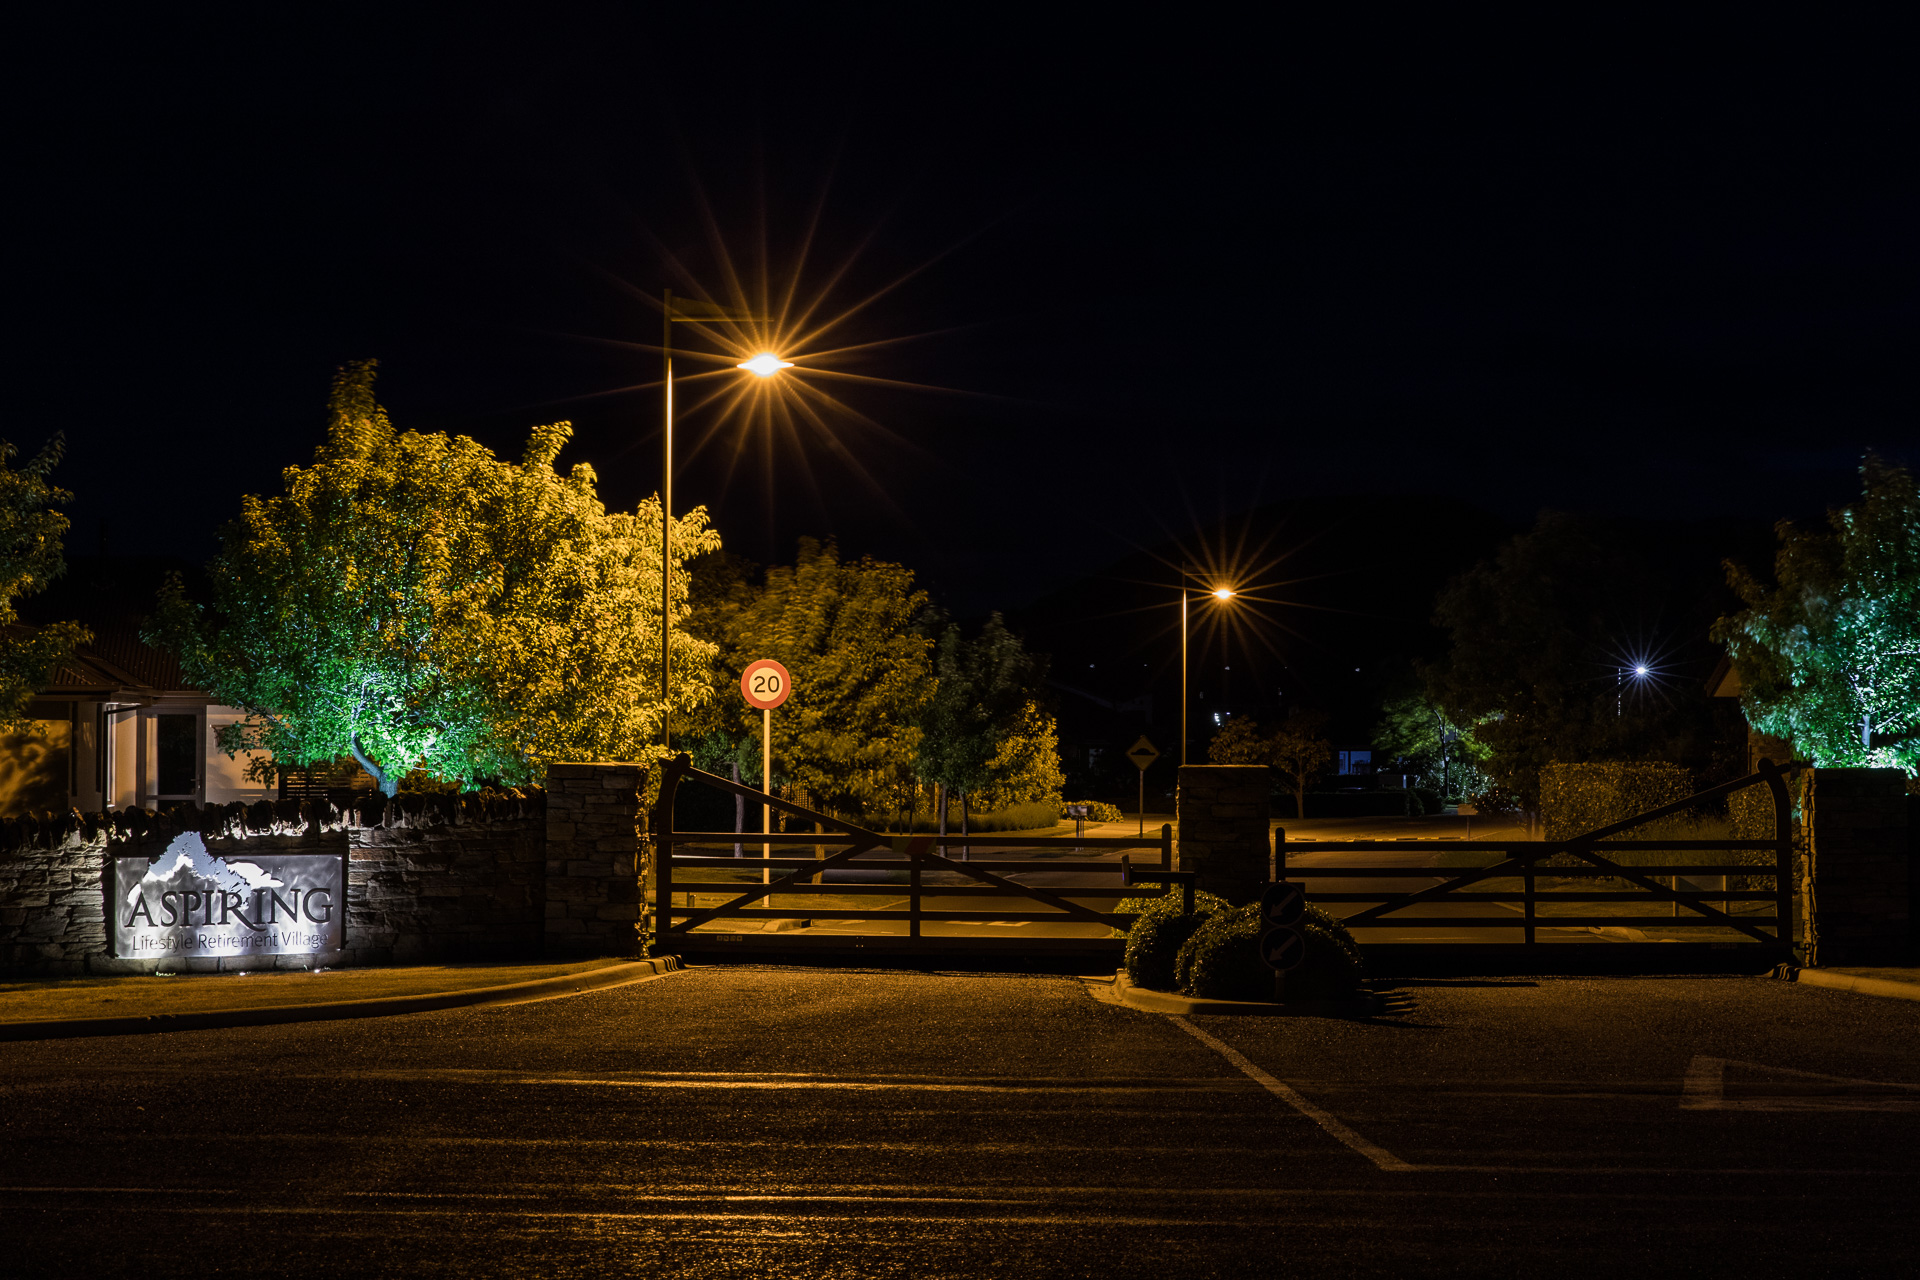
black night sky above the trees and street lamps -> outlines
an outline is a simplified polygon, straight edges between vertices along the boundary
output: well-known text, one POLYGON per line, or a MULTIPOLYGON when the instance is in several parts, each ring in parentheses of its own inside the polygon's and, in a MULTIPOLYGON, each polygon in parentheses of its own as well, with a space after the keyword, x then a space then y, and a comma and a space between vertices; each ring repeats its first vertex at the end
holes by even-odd
POLYGON ((65 430, 77 551, 204 558, 357 357, 401 426, 572 418, 632 503, 643 296, 724 296, 716 240, 783 286, 816 207, 803 296, 900 282, 839 336, 920 336, 843 367, 945 390, 833 384, 872 424, 772 476, 695 418, 680 505, 962 612, 1190 512, 1770 520, 1920 443, 1903 31, 190 8, 12 40, 0 434, 65 430))

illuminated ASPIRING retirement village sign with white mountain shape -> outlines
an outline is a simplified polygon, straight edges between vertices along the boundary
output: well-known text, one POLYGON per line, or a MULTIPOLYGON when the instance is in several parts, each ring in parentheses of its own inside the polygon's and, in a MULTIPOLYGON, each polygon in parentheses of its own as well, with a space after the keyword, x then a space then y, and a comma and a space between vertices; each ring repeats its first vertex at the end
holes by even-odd
POLYGON ((121 960, 336 952, 346 936, 346 858, 221 858, 200 833, 182 831, 154 862, 113 860, 108 910, 121 960))

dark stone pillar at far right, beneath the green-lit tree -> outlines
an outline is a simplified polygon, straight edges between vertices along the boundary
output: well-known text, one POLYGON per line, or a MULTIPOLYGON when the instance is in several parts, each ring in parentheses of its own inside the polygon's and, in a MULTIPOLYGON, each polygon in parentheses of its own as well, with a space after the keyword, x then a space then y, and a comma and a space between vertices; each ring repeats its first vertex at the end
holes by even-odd
POLYGON ((1914 963, 1907 775, 1814 770, 1805 804, 1809 963, 1914 963))

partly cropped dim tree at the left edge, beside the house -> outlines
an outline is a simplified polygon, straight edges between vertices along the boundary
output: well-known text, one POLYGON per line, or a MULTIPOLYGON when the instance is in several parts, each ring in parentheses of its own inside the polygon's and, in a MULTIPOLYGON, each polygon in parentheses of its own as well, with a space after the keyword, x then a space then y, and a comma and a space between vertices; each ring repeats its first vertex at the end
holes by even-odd
POLYGON ((65 568, 61 537, 67 518, 54 510, 73 495, 54 487, 48 476, 60 464, 65 438, 54 436, 25 464, 0 439, 0 729, 27 727, 27 702, 54 677, 54 668, 73 656, 92 633, 77 622, 27 628, 15 601, 46 589, 65 568))

